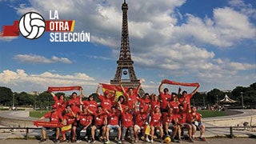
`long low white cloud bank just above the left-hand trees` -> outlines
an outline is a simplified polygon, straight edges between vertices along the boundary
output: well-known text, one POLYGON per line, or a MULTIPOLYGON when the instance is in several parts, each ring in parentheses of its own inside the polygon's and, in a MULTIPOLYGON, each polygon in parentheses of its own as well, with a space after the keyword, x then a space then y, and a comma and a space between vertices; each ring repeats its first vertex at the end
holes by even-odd
POLYGON ((3 70, 0 73, 0 85, 8 86, 14 91, 46 90, 48 86, 96 86, 95 79, 87 74, 53 74, 48 71, 42 74, 27 74, 25 70, 3 70))

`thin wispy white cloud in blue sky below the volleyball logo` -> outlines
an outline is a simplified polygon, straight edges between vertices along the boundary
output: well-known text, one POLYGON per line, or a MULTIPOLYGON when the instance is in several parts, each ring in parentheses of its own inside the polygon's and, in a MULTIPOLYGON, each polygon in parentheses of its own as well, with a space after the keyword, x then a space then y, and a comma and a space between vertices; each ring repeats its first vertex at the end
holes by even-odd
POLYGON ((36 54, 17 54, 14 56, 14 59, 18 62, 24 63, 54 63, 54 62, 62 62, 66 64, 72 63, 68 58, 58 58, 56 56, 52 56, 52 58, 45 58, 36 54))

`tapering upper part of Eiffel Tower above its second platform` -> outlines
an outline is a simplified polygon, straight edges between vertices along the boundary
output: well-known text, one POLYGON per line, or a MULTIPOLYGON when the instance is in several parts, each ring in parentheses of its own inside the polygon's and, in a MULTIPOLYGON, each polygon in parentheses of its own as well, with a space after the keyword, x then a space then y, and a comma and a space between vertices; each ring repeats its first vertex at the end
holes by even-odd
POLYGON ((119 55, 119 62, 132 61, 130 55, 130 42, 129 42, 129 31, 128 31, 128 4, 126 0, 122 3, 122 38, 121 38, 121 49, 119 55))

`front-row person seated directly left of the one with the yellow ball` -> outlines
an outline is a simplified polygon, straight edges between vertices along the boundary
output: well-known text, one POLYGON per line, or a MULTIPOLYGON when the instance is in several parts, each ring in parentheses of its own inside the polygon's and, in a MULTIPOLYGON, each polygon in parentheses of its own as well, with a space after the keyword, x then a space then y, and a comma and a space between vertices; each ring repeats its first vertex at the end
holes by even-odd
POLYGON ((151 129, 151 142, 153 143, 154 129, 160 131, 160 139, 162 142, 163 130, 162 130, 162 114, 159 106, 156 106, 154 111, 150 115, 150 129, 151 129))

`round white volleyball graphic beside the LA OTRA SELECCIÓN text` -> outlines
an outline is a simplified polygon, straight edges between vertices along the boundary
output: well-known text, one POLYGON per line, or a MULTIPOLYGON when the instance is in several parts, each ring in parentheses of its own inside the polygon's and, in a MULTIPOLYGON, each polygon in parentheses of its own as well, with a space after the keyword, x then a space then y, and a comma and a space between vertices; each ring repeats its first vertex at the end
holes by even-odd
POLYGON ((45 32, 46 22, 42 15, 36 12, 29 12, 19 20, 18 29, 23 37, 37 39, 45 32))

